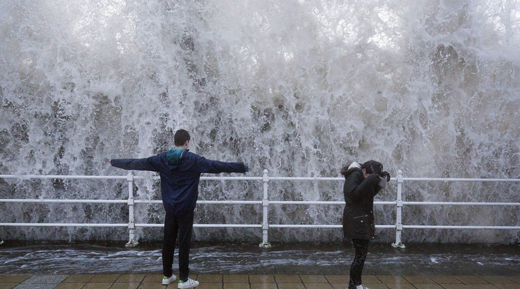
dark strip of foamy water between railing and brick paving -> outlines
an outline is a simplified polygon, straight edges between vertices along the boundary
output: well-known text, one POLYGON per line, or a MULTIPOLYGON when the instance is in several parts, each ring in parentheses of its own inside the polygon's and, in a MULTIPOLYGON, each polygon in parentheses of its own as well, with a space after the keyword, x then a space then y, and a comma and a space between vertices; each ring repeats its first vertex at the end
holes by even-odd
MULTIPOLYGON (((0 274, 150 274, 162 269, 157 242, 132 250, 122 249, 122 244, 23 243, 0 249, 0 274)), ((284 243, 271 249, 194 244, 189 266, 190 274, 345 274, 353 255, 352 246, 338 243, 284 243)), ((367 260, 363 272, 374 275, 504 276, 517 274, 520 264, 518 246, 498 244, 411 244, 395 250, 373 243, 367 260)))

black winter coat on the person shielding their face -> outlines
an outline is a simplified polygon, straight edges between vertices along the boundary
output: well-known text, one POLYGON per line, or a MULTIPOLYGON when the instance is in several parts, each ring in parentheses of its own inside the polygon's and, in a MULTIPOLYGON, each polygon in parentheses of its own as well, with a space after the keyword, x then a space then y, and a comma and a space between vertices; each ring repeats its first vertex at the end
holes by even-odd
POLYGON ((374 196, 379 193, 381 178, 377 174, 363 177, 361 168, 351 168, 345 174, 345 209, 343 237, 345 239, 374 239, 374 196))

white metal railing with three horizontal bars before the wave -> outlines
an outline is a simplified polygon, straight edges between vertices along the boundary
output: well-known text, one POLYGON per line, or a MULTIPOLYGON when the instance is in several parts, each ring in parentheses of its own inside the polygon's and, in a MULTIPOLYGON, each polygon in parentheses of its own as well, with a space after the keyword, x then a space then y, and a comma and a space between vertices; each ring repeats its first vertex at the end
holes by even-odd
MULTIPOLYGON (((150 179, 150 177, 134 176, 130 172, 126 176, 80 176, 80 175, 0 175, 3 179, 126 179, 128 184, 127 200, 44 200, 44 199, 0 199, 0 202, 36 202, 36 203, 126 203, 129 207, 128 223, 0 223, 0 226, 37 226, 37 227, 127 227, 129 229, 129 242, 127 246, 136 246, 135 230, 138 227, 163 227, 164 224, 135 223, 133 212, 136 204, 161 204, 161 200, 135 200, 133 198, 133 184, 136 179, 150 179)), ((159 179, 159 177, 152 177, 159 179)), ((269 224, 268 211, 270 205, 345 205, 344 201, 273 201, 268 198, 268 185, 270 181, 344 181, 342 177, 269 177, 268 170, 263 170, 262 177, 201 177, 201 180, 230 180, 230 181, 262 181, 262 200, 198 200, 197 204, 223 204, 223 205, 262 205, 261 224, 194 224, 195 228, 261 228, 262 242, 260 246, 270 246, 268 242, 269 228, 341 228, 338 224, 269 224)), ((403 183, 405 181, 479 181, 479 182, 520 182, 520 179, 442 179, 442 178, 412 178, 403 177, 403 172, 398 170, 397 177, 391 179, 397 181, 395 201, 375 201, 375 205, 395 205, 396 223, 387 225, 375 225, 375 228, 392 228, 396 230, 396 242, 392 245, 404 248, 401 240, 403 229, 496 229, 496 230, 520 230, 520 226, 493 226, 493 225, 403 225, 402 209, 404 205, 458 205, 458 206, 516 206, 520 202, 405 202, 403 201, 403 183)))

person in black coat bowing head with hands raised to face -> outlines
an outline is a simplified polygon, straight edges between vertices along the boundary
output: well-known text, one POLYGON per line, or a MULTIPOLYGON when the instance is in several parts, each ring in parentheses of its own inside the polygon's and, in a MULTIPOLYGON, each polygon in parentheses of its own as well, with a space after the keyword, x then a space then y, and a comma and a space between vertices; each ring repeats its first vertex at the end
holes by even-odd
POLYGON ((387 186, 388 172, 377 161, 352 163, 341 170, 345 177, 343 194, 343 237, 352 239, 354 261, 350 267, 349 289, 363 289, 361 273, 368 253, 368 242, 375 237, 374 197, 387 186))

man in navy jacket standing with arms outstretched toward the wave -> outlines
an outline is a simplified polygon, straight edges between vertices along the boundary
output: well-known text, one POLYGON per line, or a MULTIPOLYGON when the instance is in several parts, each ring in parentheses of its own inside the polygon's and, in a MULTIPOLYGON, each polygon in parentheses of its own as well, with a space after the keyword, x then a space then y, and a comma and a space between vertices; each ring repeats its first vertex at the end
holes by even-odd
POLYGON ((189 247, 192 241, 194 209, 198 198, 198 182, 201 173, 247 172, 244 163, 211 161, 189 151, 189 133, 183 129, 175 132, 175 148, 149 158, 115 158, 110 163, 124 170, 150 170, 159 172, 161 194, 166 211, 164 218, 164 242, 162 250, 162 283, 175 281, 172 272, 175 241, 179 238, 178 288, 194 288, 198 281, 189 278, 189 247))

